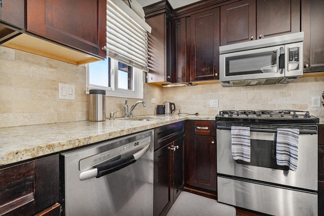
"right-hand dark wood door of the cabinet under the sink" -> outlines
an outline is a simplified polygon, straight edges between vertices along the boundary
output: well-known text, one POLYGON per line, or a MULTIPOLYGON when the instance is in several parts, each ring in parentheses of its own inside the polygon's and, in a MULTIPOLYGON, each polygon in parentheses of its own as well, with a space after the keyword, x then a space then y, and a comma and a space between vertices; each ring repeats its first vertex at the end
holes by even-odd
POLYGON ((184 137, 177 139, 173 145, 176 148, 173 153, 173 202, 175 202, 184 185, 184 137))

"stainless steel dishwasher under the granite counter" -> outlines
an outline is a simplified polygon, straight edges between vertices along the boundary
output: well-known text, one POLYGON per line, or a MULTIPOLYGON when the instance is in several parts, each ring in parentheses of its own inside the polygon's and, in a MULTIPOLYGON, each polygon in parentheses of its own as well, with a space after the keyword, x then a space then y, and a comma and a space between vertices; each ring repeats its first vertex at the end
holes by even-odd
POLYGON ((65 215, 153 215, 153 130, 60 155, 65 215))

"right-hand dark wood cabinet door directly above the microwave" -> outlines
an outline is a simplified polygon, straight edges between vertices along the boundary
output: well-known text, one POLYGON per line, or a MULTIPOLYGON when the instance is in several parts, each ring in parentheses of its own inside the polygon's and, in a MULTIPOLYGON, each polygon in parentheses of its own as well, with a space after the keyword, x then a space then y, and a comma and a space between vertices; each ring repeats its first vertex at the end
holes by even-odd
POLYGON ((300 32, 299 0, 257 0, 257 38, 300 32))

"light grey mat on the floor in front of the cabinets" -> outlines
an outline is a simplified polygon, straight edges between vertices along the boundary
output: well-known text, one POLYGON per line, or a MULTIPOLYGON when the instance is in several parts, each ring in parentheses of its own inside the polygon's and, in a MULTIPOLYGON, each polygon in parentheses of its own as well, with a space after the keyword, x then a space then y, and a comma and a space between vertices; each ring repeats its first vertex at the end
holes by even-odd
POLYGON ((235 216, 233 206, 217 202, 215 199, 182 191, 167 216, 235 216))

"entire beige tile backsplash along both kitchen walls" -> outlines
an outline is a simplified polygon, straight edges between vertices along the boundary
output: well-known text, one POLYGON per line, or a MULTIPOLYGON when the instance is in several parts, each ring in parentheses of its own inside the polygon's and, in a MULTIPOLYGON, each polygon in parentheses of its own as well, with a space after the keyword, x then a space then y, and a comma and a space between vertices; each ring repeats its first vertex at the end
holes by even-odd
MULTIPOLYGON (((86 95, 86 67, 29 54, 0 46, 0 127, 44 124, 89 119, 86 95), (75 100, 58 99, 58 83, 75 85, 75 100)), ((218 84, 161 88, 144 84, 147 106, 135 108, 134 116, 156 113, 156 105, 170 101, 175 113, 212 114, 223 109, 297 109, 324 116, 324 107, 311 107, 311 97, 324 91, 324 77, 299 78, 289 84, 222 88, 218 84), (151 99, 155 103, 151 103, 151 99), (219 107, 211 108, 210 100, 219 107)), ((128 99, 129 107, 138 99, 128 99)), ((125 98, 107 97, 106 116, 120 109, 125 98)))

